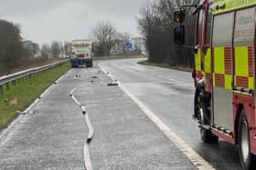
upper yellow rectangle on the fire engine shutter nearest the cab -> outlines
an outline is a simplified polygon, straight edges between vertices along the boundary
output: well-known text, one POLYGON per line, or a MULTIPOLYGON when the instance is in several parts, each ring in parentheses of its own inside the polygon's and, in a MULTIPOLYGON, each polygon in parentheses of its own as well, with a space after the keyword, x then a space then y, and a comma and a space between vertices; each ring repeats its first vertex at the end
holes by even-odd
POLYGON ((214 48, 214 73, 225 74, 224 47, 214 48))

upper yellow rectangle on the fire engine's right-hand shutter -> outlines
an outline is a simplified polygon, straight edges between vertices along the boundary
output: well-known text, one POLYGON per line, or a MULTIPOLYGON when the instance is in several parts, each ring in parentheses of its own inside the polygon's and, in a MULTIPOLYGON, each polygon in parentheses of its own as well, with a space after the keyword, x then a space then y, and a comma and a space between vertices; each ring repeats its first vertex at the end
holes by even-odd
POLYGON ((235 75, 249 76, 248 46, 235 46, 235 75))

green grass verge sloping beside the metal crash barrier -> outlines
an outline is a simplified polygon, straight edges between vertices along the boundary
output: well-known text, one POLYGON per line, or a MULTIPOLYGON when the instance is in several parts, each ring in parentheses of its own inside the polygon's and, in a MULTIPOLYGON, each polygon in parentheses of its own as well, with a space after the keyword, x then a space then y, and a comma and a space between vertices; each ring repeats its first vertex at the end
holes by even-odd
POLYGON ((4 95, 0 95, 0 130, 5 128, 16 117, 17 110, 25 110, 38 95, 52 85, 59 76, 65 74, 69 68, 70 64, 68 62, 38 75, 32 75, 30 79, 24 79, 23 82, 20 81, 16 85, 10 84, 9 90, 6 90, 4 86, 4 95), (5 99, 8 97, 17 97, 17 104, 7 105, 5 99))

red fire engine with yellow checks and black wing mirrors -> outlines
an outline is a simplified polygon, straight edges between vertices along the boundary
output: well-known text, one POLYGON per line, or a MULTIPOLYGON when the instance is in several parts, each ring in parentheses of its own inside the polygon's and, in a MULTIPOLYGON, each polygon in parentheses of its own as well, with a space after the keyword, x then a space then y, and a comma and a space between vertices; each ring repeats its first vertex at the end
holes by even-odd
MULTIPOLYGON (((184 5, 176 10, 175 43, 185 44, 184 5)), ((195 113, 201 138, 239 145, 244 169, 256 169, 256 0, 201 0, 195 5, 195 113)))

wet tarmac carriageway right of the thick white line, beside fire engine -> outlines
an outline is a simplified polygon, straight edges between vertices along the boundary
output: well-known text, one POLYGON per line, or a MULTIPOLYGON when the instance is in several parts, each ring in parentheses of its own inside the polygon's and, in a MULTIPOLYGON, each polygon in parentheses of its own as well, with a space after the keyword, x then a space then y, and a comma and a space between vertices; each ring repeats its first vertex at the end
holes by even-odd
POLYGON ((241 169, 238 149, 222 140, 202 143, 192 120, 194 83, 190 73, 138 65, 141 59, 101 62, 101 66, 217 169, 241 169))

